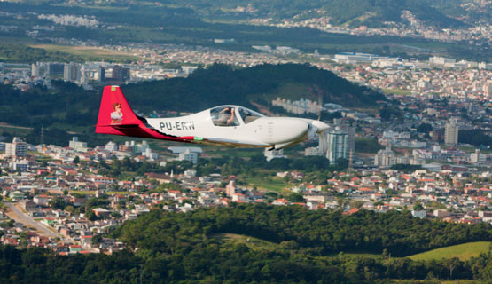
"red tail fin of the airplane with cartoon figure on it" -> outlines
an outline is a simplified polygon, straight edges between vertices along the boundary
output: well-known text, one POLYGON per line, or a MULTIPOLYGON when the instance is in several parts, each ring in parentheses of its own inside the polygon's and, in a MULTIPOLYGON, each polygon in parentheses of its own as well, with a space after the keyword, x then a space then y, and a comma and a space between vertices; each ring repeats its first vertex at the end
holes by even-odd
POLYGON ((137 126, 142 122, 133 113, 119 86, 105 86, 99 107, 96 133, 120 134, 118 129, 137 126))

